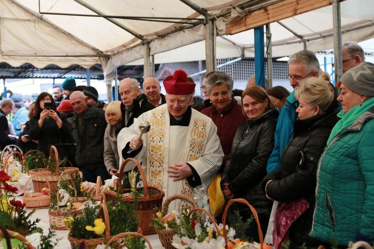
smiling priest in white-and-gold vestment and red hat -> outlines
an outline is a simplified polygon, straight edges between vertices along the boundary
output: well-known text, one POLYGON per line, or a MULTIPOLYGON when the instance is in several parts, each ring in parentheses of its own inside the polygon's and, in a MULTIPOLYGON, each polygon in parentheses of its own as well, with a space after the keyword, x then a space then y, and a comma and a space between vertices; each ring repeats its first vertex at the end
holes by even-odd
MULTIPOLYGON (((195 83, 187 81, 179 69, 164 80, 166 104, 143 113, 129 128, 118 134, 121 160, 142 162, 149 185, 165 191, 165 198, 176 193, 192 196, 198 185, 209 186, 219 170, 223 151, 212 120, 191 108, 195 83), (140 122, 148 121, 150 131, 139 138, 140 122), (133 151, 129 153, 129 149, 133 151)), ((130 170, 132 164, 125 167, 130 170)), ((169 207, 179 209, 180 201, 169 207)))

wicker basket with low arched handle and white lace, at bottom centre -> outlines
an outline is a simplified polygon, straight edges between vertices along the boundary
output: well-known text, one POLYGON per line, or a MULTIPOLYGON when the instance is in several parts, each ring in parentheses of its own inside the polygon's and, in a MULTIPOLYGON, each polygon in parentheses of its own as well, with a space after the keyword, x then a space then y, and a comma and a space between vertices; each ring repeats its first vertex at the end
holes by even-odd
MULTIPOLYGON (((162 209, 161 209, 162 213, 167 211, 168 208, 169 208, 169 204, 176 199, 184 200, 184 201, 190 203, 192 205, 193 209, 198 208, 198 204, 190 196, 183 195, 183 194, 174 194, 174 195, 171 195, 168 198, 166 198, 166 200, 162 204, 162 209)), ((170 228, 164 228, 164 229, 155 228, 155 230, 158 234, 158 238, 159 238, 163 248, 165 248, 165 249, 176 249, 175 247, 172 246, 172 241, 173 241, 173 236, 174 236, 174 232, 173 232, 172 229, 170 229, 170 228)))

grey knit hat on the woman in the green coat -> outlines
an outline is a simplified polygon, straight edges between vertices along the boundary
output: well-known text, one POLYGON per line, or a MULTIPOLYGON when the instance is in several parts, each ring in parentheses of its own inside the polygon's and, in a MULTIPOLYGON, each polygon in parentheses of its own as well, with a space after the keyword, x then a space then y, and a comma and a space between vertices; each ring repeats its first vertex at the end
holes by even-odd
POLYGON ((374 96, 374 64, 362 62, 345 72, 338 82, 338 87, 343 83, 353 92, 362 96, 374 96))

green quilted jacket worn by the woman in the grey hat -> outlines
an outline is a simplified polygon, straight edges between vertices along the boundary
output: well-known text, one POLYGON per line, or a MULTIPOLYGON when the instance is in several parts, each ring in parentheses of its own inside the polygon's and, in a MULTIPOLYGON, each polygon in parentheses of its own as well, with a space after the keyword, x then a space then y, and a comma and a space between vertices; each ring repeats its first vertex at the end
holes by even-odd
POLYGON ((347 246, 374 237, 374 107, 338 133, 318 163, 310 235, 347 246))

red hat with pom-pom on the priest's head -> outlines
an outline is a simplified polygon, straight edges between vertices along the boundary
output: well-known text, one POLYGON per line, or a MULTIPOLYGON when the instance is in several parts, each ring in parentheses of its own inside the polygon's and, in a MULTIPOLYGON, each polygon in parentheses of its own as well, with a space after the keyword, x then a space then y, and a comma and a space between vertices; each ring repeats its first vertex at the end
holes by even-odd
POLYGON ((175 95, 193 94, 196 84, 186 80, 187 73, 182 69, 176 70, 173 75, 166 77, 164 80, 166 93, 175 95))

